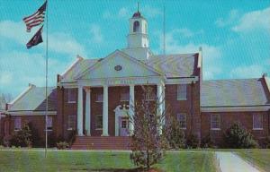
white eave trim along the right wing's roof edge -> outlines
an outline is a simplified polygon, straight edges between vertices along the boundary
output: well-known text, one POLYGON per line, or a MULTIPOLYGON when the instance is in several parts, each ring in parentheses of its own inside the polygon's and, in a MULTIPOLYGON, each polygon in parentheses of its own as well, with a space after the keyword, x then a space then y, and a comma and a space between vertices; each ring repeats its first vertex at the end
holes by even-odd
POLYGON ((270 106, 259 107, 201 107, 201 112, 260 112, 267 111, 270 106))

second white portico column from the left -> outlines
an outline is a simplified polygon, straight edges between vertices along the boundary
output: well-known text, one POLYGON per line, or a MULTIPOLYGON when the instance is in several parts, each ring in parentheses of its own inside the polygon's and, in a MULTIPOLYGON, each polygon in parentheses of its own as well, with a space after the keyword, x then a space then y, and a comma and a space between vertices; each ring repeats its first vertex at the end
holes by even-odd
POLYGON ((85 89, 85 130, 86 135, 91 135, 91 90, 85 89))

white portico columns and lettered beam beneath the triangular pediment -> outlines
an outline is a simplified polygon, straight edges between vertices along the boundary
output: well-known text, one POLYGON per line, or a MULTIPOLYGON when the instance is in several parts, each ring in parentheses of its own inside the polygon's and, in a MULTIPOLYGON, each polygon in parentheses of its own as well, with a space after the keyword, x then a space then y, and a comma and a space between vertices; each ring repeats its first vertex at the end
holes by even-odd
MULTIPOLYGON (((153 79, 152 79, 153 80, 153 79)), ((129 87, 129 106, 128 107, 128 117, 132 118, 134 115, 134 103, 135 103, 135 86, 136 85, 156 85, 157 86, 157 97, 160 98, 160 100, 164 99, 164 84, 162 84, 161 81, 158 81, 157 79, 150 82, 150 79, 147 78, 115 78, 112 80, 103 81, 103 102, 102 102, 102 116, 103 116, 103 128, 102 128, 102 136, 110 136, 109 134, 109 88, 111 87, 129 87), (144 81, 145 80, 145 81, 144 81)), ((100 81, 102 82, 102 81, 100 81)), ((85 135, 90 136, 91 135, 91 92, 93 88, 101 87, 99 84, 94 84, 94 82, 91 81, 81 81, 81 85, 78 86, 78 96, 77 96, 77 131, 79 136, 84 135, 84 118, 85 118, 85 135), (87 84, 89 82, 90 84, 87 84), (85 90, 85 107, 84 107, 84 96, 83 92, 85 90), (84 108, 85 108, 85 117, 84 117, 84 108)), ((160 112, 162 112, 165 108, 165 102, 160 101, 160 112)), ((115 127, 120 126, 118 123, 118 120, 115 119, 115 127)), ((93 124, 93 123, 92 123, 93 124)), ((129 133, 131 134, 134 126, 132 123, 128 124, 129 133)), ((114 128, 115 131, 118 130, 118 128, 114 128)), ((118 136, 119 133, 115 132, 115 136, 118 136)), ((111 135, 114 136, 114 135, 111 135)))

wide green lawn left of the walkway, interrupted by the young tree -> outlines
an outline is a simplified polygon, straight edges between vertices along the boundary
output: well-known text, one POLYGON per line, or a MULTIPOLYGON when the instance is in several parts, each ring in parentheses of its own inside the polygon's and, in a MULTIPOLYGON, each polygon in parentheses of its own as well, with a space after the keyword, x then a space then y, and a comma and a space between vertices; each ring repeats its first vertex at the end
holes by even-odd
MULTIPOLYGON (((169 152, 155 168, 163 171, 216 171, 213 152, 169 152)), ((136 171, 129 152, 0 150, 0 171, 136 171)))

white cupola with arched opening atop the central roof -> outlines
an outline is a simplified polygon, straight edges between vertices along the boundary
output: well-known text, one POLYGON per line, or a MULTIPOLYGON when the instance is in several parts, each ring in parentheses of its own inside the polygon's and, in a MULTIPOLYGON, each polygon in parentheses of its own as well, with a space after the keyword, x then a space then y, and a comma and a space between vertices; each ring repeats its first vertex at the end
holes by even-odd
POLYGON ((148 22, 139 13, 139 9, 130 18, 130 31, 127 40, 128 46, 122 49, 123 52, 139 60, 147 60, 152 55, 148 48, 148 22))

